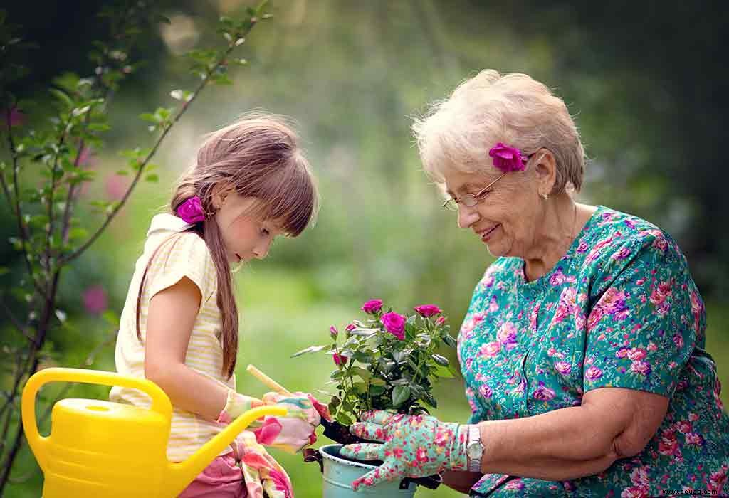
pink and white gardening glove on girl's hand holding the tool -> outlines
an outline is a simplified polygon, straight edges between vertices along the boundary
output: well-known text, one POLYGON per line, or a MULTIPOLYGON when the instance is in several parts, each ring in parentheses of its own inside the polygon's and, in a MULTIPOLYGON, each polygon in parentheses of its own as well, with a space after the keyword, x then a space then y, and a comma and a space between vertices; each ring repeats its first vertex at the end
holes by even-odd
POLYGON ((278 392, 265 393, 263 395, 265 405, 281 406, 288 410, 288 414, 265 416, 261 427, 253 430, 258 442, 291 454, 315 443, 314 431, 321 422, 321 415, 310 397, 311 395, 305 392, 292 392, 286 395, 278 392))

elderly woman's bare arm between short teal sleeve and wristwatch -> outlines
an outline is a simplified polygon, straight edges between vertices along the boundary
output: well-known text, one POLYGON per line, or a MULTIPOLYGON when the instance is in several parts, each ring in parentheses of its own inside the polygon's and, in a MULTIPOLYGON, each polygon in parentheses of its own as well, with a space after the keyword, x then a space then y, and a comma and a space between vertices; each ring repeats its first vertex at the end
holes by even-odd
POLYGON ((601 387, 585 393, 581 406, 480 422, 481 470, 547 481, 593 475, 639 454, 667 409, 664 396, 601 387))

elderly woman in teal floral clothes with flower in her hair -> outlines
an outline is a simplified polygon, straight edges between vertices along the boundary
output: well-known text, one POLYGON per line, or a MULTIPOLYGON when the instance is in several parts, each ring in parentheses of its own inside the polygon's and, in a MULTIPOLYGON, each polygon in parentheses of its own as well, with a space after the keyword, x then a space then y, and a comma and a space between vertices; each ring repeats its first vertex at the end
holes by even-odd
POLYGON ((459 334, 468 424, 365 414, 354 486, 445 471, 477 497, 727 493, 729 416, 685 256, 636 216, 575 202, 563 101, 483 71, 414 127, 426 172, 496 261, 459 334), (680 492, 680 491, 679 491, 680 492))

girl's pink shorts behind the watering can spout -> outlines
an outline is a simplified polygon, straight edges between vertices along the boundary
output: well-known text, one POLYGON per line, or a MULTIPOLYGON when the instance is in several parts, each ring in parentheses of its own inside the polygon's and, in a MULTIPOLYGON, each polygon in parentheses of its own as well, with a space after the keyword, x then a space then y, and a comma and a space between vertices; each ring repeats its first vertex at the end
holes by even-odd
POLYGON ((235 451, 214 459, 182 491, 179 498, 244 498, 248 496, 243 470, 235 460, 235 451))

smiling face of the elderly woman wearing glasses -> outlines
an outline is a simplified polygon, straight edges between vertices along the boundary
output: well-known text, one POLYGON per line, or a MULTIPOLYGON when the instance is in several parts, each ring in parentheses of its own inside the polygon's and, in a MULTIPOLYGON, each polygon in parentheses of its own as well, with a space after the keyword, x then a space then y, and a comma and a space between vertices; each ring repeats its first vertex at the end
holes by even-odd
MULTIPOLYGON (((460 199, 477 194, 502 174, 491 170, 464 173, 448 168, 444 171, 448 195, 460 199)), ((529 176, 529 170, 507 173, 478 197, 477 205, 469 208, 459 202, 459 226, 471 229, 493 256, 525 257, 537 242, 539 194, 529 176)))

